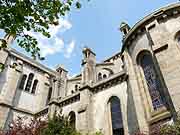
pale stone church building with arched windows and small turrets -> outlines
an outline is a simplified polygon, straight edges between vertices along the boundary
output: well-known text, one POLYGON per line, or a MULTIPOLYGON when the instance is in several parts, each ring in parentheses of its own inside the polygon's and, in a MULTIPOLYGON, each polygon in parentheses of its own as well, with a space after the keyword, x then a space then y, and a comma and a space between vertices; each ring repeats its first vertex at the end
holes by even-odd
MULTIPOLYGON (((96 62, 84 48, 82 72, 68 78, 8 47, 0 51, 0 126, 20 116, 54 112, 77 130, 131 135, 173 122, 180 108, 180 3, 163 7, 132 28, 122 23, 119 53, 96 62)), ((6 37, 10 44, 11 37, 6 37)))

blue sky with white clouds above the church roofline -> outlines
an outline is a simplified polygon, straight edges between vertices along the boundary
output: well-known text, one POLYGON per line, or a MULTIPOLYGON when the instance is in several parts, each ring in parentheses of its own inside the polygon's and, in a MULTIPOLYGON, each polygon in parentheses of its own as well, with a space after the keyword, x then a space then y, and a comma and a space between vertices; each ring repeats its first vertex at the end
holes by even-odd
POLYGON ((46 58, 41 63, 50 68, 62 64, 70 76, 78 74, 84 46, 96 53, 98 62, 103 61, 121 50, 118 28, 122 21, 132 27, 154 10, 175 2, 178 0, 82 0, 80 10, 72 9, 58 27, 50 28, 51 39, 35 34, 46 58))

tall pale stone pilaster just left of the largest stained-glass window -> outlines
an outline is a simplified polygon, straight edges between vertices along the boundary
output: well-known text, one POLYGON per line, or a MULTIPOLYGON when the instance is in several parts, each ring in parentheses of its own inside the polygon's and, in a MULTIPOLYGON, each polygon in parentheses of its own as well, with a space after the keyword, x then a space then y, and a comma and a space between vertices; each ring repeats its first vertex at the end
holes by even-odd
MULTIPOLYGON (((142 98, 141 98, 141 93, 140 93, 140 87, 137 82, 137 77, 135 74, 135 70, 132 64, 131 57, 128 54, 128 51, 125 49, 124 51, 124 64, 126 67, 126 70, 128 72, 129 78, 127 80, 127 85, 128 85, 128 99, 131 99, 131 101, 128 101, 129 106, 131 107, 131 111, 134 108, 133 114, 128 114, 128 115, 133 115, 135 117, 132 118, 132 120, 128 120, 131 123, 129 123, 133 128, 132 130, 134 131, 149 131, 148 128, 148 123, 146 122, 146 116, 144 113, 144 108, 143 108, 143 103, 142 103, 142 98), (137 123, 136 123, 137 122, 137 123), (134 123, 134 124, 132 124, 134 123), (134 127, 136 125, 136 127, 134 127)), ((129 116, 131 118, 131 116, 129 116)), ((129 126, 130 126, 129 125, 129 126)), ((132 131, 132 132, 134 132, 132 131)))

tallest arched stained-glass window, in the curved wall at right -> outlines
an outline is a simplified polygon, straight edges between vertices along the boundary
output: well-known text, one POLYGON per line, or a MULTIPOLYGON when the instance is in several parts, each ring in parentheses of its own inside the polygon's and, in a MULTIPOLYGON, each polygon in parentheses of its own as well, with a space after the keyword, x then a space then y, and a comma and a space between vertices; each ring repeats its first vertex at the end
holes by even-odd
POLYGON ((157 74, 152 55, 150 53, 144 53, 140 58, 140 65, 144 72, 145 80, 152 99, 153 108, 156 110, 164 106, 162 97, 160 95, 162 85, 157 74))

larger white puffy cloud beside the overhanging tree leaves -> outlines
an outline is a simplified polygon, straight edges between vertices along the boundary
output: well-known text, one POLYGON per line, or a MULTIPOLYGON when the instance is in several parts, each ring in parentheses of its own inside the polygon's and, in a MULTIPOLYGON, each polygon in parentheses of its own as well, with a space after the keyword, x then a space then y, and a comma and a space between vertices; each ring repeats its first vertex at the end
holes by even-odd
MULTIPOLYGON (((64 33, 65 31, 72 28, 72 24, 67 20, 60 18, 59 25, 51 25, 49 32, 51 34, 50 38, 44 37, 40 33, 27 32, 29 35, 35 37, 38 40, 38 46, 40 47, 40 53, 43 57, 47 55, 53 55, 59 52, 64 52, 64 41, 62 37, 59 37, 59 33, 64 33)), ((65 52, 66 53, 66 50, 65 52)), ((71 54, 71 50, 67 50, 68 56, 71 54)))

